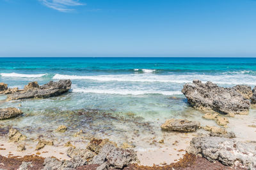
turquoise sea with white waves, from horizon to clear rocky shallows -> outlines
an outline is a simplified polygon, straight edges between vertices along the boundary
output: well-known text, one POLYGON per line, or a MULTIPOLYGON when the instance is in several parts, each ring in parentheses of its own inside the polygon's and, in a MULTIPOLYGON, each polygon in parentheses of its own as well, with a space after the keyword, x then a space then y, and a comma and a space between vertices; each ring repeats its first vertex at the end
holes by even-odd
MULTIPOLYGON (((110 138, 119 143, 161 138, 166 118, 198 119, 181 94, 194 79, 230 87, 256 85, 254 58, 0 58, 0 82, 22 89, 29 81, 71 79, 72 90, 60 97, 4 102, 24 116, 0 125, 18 127, 31 138, 38 134, 71 139, 80 129, 85 136, 110 138), (78 111, 82 110, 82 111, 78 111), (68 126, 65 134, 52 131, 68 126), (37 132, 35 134, 33 132, 37 132)), ((214 124, 214 122, 210 123, 214 124)), ((149 147, 149 146, 148 146, 149 147)))

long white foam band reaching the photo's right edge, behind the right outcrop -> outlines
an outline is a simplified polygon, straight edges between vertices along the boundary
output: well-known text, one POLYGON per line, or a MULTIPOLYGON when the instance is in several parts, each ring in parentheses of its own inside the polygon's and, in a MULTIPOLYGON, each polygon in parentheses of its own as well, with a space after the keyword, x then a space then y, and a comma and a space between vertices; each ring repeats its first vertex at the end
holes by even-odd
POLYGON ((110 74, 97 76, 76 76, 55 74, 53 79, 71 80, 95 80, 95 81, 138 81, 138 82, 163 82, 163 83, 191 83, 195 79, 203 82, 212 81, 213 83, 226 85, 256 85, 256 76, 250 74, 234 75, 205 75, 205 74, 110 74))

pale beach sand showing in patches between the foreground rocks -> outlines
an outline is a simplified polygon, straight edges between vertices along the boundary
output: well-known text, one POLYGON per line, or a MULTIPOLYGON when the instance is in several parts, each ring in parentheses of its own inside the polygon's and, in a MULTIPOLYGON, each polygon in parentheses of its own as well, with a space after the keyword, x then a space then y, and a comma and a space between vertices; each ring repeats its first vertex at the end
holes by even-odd
MULTIPOLYGON (((203 114, 202 114, 203 115, 203 114)), ((240 141, 255 141, 256 140, 256 128, 248 127, 248 125, 256 125, 256 111, 250 111, 250 115, 236 115, 234 118, 228 118, 229 124, 227 131, 235 132, 237 140, 240 141)), ((207 120, 213 121, 213 120, 207 120)), ((212 124, 212 122, 210 122, 212 124)), ((216 126, 218 126, 216 124, 216 126)), ((206 131, 200 129, 197 132, 206 131)), ((189 146, 189 142, 192 138, 197 136, 197 132, 193 133, 179 133, 179 132, 163 132, 162 136, 159 136, 157 140, 152 143, 151 148, 135 148, 140 165, 153 166, 170 164, 176 162, 184 155, 186 148, 189 146), (160 139, 164 139, 164 143, 158 143, 160 139)), ((67 147, 63 143, 54 142, 54 146, 45 146, 42 150, 36 151, 37 142, 25 144, 26 150, 23 152, 17 152, 17 143, 8 142, 7 137, 0 138, 0 155, 7 156, 20 156, 24 155, 36 155, 40 153, 40 157, 56 157, 58 159, 70 159, 66 152, 67 147), (3 146, 1 146, 3 145, 3 146)), ((73 142, 72 145, 77 148, 86 148, 87 143, 83 141, 73 142)))

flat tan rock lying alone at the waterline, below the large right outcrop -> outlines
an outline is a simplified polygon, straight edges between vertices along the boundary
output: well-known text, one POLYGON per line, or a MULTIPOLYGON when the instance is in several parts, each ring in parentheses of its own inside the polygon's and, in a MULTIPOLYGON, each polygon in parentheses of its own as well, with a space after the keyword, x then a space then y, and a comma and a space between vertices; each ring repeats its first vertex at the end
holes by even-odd
POLYGON ((184 119, 169 119, 161 125, 163 131, 195 132, 200 128, 200 122, 184 119))

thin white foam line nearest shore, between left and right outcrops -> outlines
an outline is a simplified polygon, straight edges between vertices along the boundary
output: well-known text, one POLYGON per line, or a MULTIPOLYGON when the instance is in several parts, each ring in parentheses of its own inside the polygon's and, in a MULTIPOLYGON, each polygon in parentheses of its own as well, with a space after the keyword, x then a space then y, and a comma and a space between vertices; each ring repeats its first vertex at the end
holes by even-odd
POLYGON ((84 93, 96 93, 96 94, 121 94, 121 95, 143 95, 143 94, 163 94, 166 96, 173 96, 182 94, 180 91, 145 91, 145 90, 114 90, 114 89, 82 89, 82 88, 74 88, 72 92, 84 92, 84 93))

